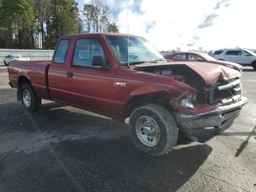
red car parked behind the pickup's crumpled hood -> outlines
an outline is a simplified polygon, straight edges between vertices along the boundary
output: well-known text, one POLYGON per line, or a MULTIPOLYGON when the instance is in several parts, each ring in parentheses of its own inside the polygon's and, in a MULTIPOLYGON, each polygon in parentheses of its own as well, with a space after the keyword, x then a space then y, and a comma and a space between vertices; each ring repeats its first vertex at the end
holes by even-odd
POLYGON ((240 73, 242 73, 243 71, 243 67, 237 63, 227 62, 223 60, 222 61, 216 60, 215 58, 209 56, 208 54, 199 53, 199 52, 179 52, 179 53, 166 55, 164 56, 164 58, 171 61, 196 61, 196 62, 206 62, 206 64, 214 63, 214 64, 230 67, 232 69, 239 71, 240 73))

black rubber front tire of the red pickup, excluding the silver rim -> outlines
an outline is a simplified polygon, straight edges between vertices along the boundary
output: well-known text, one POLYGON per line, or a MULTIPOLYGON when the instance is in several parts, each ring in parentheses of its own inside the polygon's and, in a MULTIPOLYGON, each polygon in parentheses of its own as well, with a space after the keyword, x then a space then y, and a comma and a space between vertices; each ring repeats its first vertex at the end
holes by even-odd
POLYGON ((166 108, 158 104, 147 104, 136 108, 130 116, 129 129, 132 141, 137 148, 153 156, 167 154, 176 145, 178 140, 178 127, 174 117, 166 108), (152 118, 159 127, 160 140, 155 146, 143 144, 136 133, 136 123, 143 116, 152 118))

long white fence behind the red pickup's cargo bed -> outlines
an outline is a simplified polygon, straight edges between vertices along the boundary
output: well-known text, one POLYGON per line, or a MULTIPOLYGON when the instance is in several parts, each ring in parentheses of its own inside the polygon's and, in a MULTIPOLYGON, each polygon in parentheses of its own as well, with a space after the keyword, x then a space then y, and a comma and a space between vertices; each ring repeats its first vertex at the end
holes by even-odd
POLYGON ((7 55, 28 56, 30 60, 52 60, 54 50, 0 49, 0 62, 7 55))

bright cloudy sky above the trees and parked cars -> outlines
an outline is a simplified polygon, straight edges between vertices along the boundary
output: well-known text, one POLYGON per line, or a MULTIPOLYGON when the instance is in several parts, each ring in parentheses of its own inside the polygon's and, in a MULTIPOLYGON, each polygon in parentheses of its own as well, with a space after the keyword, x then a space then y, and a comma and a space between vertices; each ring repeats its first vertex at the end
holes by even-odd
MULTIPOLYGON (((90 0, 76 0, 82 9, 90 0)), ((146 38, 158 51, 256 49, 256 0, 101 0, 115 8, 121 33, 146 38), (128 18, 127 18, 128 2, 128 18)))

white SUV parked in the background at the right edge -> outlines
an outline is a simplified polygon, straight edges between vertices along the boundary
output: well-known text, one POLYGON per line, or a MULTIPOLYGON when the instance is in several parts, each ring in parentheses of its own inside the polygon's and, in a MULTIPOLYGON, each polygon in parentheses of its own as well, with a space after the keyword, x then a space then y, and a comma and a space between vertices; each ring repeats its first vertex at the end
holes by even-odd
POLYGON ((238 63, 242 66, 252 66, 256 70, 256 53, 245 49, 220 49, 212 54, 218 60, 238 63))

